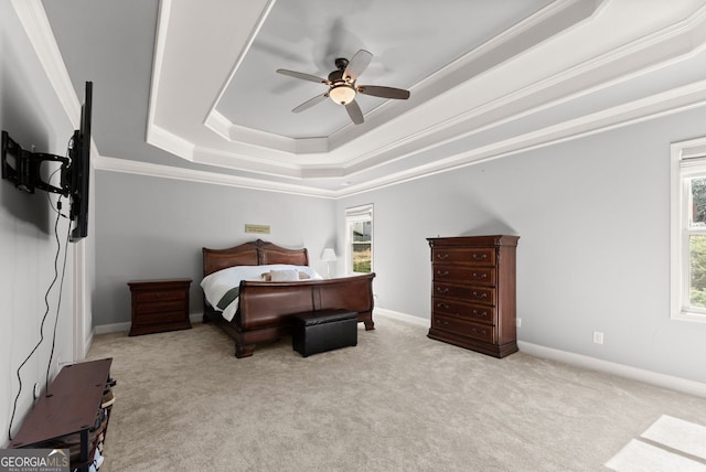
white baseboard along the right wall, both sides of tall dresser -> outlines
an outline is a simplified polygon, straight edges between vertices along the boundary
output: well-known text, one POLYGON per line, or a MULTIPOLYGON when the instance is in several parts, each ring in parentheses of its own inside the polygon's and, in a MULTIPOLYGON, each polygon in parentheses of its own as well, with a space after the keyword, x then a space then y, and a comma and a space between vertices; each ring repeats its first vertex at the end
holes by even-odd
MULTIPOLYGON (((413 317, 406 313, 399 313, 392 310, 382 308, 375 309, 376 315, 392 318, 407 323, 417 324, 428 328, 429 320, 419 317, 413 317)), ((525 341, 517 341, 520 351, 525 354, 530 354, 536 357, 548 358, 552 361, 563 362, 565 364, 574 365, 577 367, 589 368, 591 371, 603 372, 606 374, 617 375, 619 377, 630 378, 632 380, 643 382, 645 384, 655 385, 657 387, 667 388, 670 390, 676 390, 688 395, 706 398, 706 384, 695 380, 688 380, 686 378, 674 377, 666 374, 660 374, 652 371, 645 371, 638 367, 631 367, 624 364, 618 364, 614 362, 603 361, 596 357, 590 357, 582 354, 575 354, 567 351, 559 351, 552 347, 542 346, 538 344, 528 343, 525 341)))

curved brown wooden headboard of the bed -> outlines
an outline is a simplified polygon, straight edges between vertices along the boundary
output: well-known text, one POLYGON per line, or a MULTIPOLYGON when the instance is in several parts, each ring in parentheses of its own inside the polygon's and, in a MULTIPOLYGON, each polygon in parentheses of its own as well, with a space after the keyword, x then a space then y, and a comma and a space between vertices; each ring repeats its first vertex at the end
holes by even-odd
POLYGON ((233 266, 264 266, 267 264, 291 264, 292 266, 308 266, 309 253, 307 248, 287 249, 261 239, 229 247, 227 249, 202 248, 203 275, 233 266))

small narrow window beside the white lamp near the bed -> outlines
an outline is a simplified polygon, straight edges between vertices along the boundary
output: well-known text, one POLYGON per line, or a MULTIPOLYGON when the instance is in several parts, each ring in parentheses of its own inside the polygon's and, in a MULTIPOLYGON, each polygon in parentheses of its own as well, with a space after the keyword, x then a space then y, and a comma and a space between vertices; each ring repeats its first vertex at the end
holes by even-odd
POLYGON ((373 205, 345 211, 345 272, 373 271, 373 205))

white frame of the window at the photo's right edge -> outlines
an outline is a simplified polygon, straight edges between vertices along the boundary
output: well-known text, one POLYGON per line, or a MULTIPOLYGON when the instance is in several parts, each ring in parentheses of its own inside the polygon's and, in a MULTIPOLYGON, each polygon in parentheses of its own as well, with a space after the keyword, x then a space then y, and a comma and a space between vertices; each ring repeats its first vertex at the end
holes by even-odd
POLYGON ((689 224, 691 194, 688 180, 706 178, 706 138, 676 142, 672 153, 671 215, 671 300, 670 318, 677 321, 706 323, 706 309, 689 305, 692 235, 706 235, 705 227, 689 224))

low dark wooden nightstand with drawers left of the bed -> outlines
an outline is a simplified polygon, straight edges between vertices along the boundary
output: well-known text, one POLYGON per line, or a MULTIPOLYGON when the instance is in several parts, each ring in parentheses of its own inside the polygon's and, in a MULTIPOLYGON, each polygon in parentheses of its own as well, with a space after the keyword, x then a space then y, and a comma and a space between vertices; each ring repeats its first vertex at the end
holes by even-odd
POLYGON ((189 330, 191 279, 132 280, 132 325, 130 336, 189 330))

